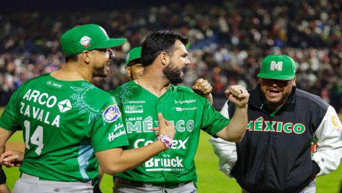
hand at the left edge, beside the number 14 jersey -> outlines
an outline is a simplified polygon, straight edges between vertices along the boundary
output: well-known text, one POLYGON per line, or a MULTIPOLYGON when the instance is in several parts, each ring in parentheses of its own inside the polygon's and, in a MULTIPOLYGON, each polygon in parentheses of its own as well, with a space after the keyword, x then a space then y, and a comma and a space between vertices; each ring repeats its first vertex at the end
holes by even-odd
POLYGON ((0 162, 6 167, 19 167, 24 160, 24 152, 7 151, 0 156, 0 162))

